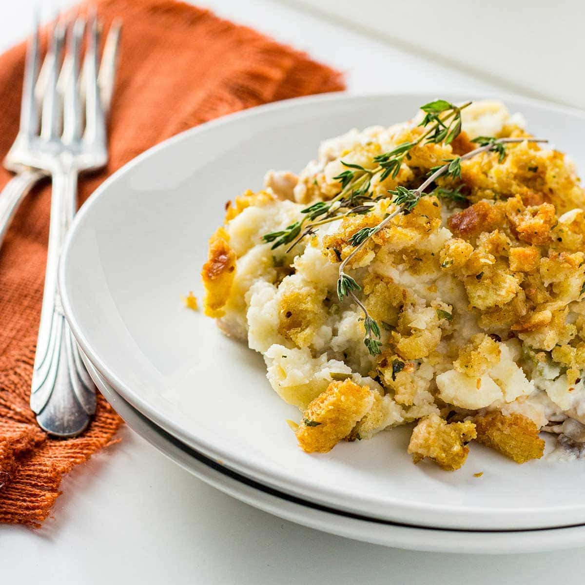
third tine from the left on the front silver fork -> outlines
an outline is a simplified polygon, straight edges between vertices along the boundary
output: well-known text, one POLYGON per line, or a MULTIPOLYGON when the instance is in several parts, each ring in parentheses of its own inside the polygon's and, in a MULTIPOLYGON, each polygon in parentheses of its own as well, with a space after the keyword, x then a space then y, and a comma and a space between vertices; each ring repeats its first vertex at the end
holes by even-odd
POLYGON ((63 142, 70 143, 81 137, 81 101, 77 90, 81 42, 85 32, 85 19, 78 18, 71 26, 67 39, 66 63, 63 63, 63 142))

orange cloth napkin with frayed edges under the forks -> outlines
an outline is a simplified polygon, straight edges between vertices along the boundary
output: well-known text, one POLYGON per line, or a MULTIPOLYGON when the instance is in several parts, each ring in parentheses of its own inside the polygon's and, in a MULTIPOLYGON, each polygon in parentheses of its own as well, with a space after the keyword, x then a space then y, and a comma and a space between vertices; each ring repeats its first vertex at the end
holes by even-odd
MULTIPOLYGON (((80 201, 157 142, 212 118, 278 99, 343 89, 305 54, 211 12, 171 0, 98 0, 108 30, 122 19, 110 161, 80 181, 80 201)), ((84 7, 81 7, 84 11, 84 7)), ((25 45, 0 57, 0 157, 18 130, 25 45)), ((0 188, 11 174, 0 168, 0 188)), ((26 199, 0 250, 0 522, 40 526, 61 477, 115 441, 121 419, 99 397, 88 431, 49 438, 29 409, 49 230, 49 185, 26 199)))

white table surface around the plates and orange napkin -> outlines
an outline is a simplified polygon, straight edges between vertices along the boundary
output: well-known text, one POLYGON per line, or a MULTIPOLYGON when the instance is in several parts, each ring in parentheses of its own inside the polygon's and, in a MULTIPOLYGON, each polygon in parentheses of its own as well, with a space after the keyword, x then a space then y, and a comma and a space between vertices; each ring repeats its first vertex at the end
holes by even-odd
MULTIPOLYGON (((4 50, 25 34, 33 6, 40 2, 1 4, 4 50)), ((279 2, 204 4, 342 68, 350 91, 507 89, 279 2)), ((0 526, 1 584, 583 583, 583 549, 439 555, 354 542, 233 500, 180 469, 128 428, 120 436, 121 443, 78 466, 63 481, 54 518, 41 530, 0 526)))

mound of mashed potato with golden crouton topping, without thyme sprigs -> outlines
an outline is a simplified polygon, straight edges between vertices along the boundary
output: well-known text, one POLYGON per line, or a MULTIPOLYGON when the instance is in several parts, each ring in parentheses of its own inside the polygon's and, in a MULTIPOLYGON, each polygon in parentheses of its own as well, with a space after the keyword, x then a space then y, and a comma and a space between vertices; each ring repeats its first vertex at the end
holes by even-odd
POLYGON ((585 424, 585 194, 564 154, 522 140, 462 160, 460 177, 438 178, 371 235, 346 271, 380 326, 379 353, 364 345, 362 308, 336 294, 353 236, 396 209, 389 190, 418 186, 477 136, 529 137, 521 116, 472 104, 451 144, 421 142, 395 176, 371 179, 368 213, 290 251, 262 239, 335 197, 348 164, 372 168, 416 140, 421 117, 326 140, 298 176, 269 171, 264 190, 231 202, 202 272, 205 311, 264 356, 271 386, 303 412, 307 451, 417 421, 415 462, 457 469, 476 438, 517 462, 538 458, 540 429, 585 424))

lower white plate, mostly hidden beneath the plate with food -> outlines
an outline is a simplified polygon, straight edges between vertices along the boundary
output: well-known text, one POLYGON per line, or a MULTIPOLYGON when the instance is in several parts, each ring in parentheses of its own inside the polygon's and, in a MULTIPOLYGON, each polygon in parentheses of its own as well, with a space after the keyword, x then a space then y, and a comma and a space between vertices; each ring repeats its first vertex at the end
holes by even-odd
POLYGON ((101 393, 133 431, 202 481, 280 518, 358 541, 431 552, 501 555, 576 548, 585 544, 585 526, 523 532, 464 532, 369 521, 316 507, 247 480, 190 449, 140 414, 109 386, 87 357, 83 358, 101 393))

